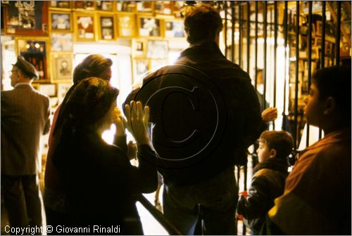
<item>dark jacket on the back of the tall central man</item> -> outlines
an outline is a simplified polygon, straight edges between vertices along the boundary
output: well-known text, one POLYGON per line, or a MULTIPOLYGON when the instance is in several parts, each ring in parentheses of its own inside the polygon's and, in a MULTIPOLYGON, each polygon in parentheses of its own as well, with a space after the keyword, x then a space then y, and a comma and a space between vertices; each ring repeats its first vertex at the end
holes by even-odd
POLYGON ((260 108, 249 75, 214 42, 187 48, 175 64, 146 77, 134 100, 151 107, 165 181, 187 185, 241 162, 259 134, 260 108))

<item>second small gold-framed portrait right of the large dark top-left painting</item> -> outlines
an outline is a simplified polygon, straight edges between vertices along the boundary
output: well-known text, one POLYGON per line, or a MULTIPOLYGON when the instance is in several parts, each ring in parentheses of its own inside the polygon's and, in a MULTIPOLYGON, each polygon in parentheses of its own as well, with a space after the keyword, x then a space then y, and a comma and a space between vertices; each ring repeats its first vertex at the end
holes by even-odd
POLYGON ((95 41, 95 15, 75 13, 75 40, 95 41))

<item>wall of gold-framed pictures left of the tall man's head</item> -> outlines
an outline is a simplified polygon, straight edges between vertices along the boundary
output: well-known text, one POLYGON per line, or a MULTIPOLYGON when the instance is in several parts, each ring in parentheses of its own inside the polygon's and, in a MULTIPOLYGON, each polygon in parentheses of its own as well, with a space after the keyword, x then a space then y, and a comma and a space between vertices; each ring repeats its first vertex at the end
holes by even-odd
MULTIPOLYGON (((132 81, 187 46, 183 1, 1 1, 1 34, 37 68, 34 86, 58 100, 71 83, 75 44, 130 46, 132 81), (50 84, 50 86, 48 86, 50 84), (52 85, 51 85, 52 84, 52 85), (50 89, 48 89, 50 88, 50 89), (59 96, 60 94, 60 96, 59 96)), ((109 53, 106 51, 106 53, 109 53)))

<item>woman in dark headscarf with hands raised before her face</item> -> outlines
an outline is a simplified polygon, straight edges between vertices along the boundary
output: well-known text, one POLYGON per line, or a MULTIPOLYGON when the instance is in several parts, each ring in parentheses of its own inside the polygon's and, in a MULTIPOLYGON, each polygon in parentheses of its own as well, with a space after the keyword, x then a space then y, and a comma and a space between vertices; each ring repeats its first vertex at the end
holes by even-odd
POLYGON ((108 81, 83 79, 62 110, 65 120, 53 162, 68 195, 70 221, 85 229, 82 234, 143 234, 133 195, 156 190, 156 168, 150 164, 156 154, 144 126, 149 107, 143 111, 139 102, 125 106, 125 124, 137 143, 139 167, 130 164, 126 143, 108 145, 101 138, 112 123, 117 135, 125 136, 117 96, 118 89, 108 81))

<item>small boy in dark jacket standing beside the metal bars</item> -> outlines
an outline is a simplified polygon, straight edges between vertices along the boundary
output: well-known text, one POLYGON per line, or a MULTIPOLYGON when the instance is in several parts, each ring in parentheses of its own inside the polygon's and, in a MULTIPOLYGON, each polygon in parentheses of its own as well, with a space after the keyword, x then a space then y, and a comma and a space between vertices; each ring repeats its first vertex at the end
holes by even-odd
POLYGON ((284 193, 289 167, 287 156, 292 147, 292 136, 286 131, 265 131, 259 138, 259 163, 253 169, 249 191, 242 192, 237 204, 237 213, 245 218, 252 235, 258 235, 265 214, 274 206, 274 199, 284 193))

